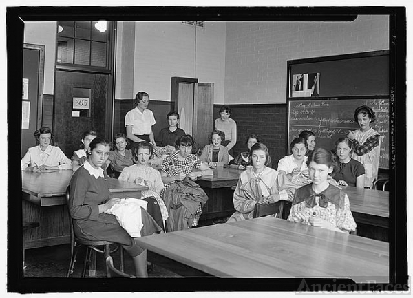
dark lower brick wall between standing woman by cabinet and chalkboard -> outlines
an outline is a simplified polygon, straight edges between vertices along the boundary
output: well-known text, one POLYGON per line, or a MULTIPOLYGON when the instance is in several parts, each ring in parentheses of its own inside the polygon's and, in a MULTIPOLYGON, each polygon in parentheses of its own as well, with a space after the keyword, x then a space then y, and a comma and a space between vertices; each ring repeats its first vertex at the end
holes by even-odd
MULTIPOLYGON (((214 105, 213 118, 220 117, 222 105, 214 105)), ((273 168, 277 169, 278 160, 286 156, 286 104, 231 105, 233 120, 237 123, 237 144, 234 153, 246 151, 248 134, 260 134, 262 142, 268 147, 273 168)))

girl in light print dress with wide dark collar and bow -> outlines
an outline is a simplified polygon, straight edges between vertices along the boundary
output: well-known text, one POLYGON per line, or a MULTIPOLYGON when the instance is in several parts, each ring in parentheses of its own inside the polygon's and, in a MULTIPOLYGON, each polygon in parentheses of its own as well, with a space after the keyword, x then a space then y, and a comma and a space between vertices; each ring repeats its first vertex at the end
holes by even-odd
POLYGON ((295 191, 288 220, 349 233, 356 223, 346 193, 327 180, 337 167, 335 156, 324 148, 317 148, 307 160, 313 183, 295 191))

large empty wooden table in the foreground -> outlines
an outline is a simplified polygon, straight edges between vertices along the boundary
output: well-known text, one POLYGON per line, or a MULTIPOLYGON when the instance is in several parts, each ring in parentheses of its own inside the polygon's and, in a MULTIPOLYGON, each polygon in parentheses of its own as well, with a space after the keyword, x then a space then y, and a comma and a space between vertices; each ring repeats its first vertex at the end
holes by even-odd
POLYGON ((216 277, 389 281, 388 243, 275 217, 140 237, 138 243, 216 277))

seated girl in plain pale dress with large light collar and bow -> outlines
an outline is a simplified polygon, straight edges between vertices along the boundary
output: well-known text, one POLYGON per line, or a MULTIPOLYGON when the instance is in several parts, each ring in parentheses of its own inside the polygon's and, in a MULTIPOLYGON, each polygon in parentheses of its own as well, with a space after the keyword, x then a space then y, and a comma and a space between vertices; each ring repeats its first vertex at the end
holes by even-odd
MULTIPOLYGON (((278 171, 267 167, 269 153, 266 145, 258 142, 250 151, 253 167, 240 175, 233 195, 235 213, 227 222, 250 220, 256 204, 289 200, 286 191, 280 191, 278 171)), ((291 200, 291 199, 290 199, 291 200)))

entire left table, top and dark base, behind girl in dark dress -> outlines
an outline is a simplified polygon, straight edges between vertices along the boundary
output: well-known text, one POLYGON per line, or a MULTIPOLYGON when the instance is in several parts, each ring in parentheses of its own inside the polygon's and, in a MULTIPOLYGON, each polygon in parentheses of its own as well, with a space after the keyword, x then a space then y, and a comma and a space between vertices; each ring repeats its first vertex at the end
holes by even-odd
MULTIPOLYGON (((34 173, 21 171, 23 220, 39 222, 39 228, 26 233, 25 248, 36 248, 70 243, 69 214, 66 188, 72 170, 34 173)), ((142 190, 137 184, 108 178, 110 198, 140 198, 142 190)))

